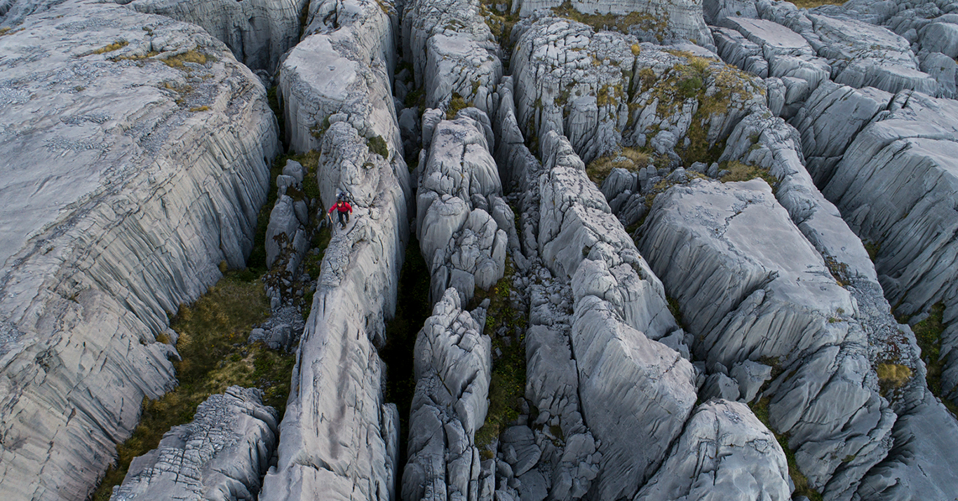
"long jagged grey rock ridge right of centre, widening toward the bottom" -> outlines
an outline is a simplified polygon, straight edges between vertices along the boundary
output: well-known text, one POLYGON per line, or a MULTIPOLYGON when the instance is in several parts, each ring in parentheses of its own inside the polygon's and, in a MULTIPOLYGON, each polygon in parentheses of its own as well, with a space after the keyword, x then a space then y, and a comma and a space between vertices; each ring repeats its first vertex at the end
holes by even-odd
POLYGON ((582 161, 568 141, 547 133, 543 157, 537 241, 545 265, 572 285, 569 339, 582 416, 602 454, 592 489, 604 499, 631 496, 691 413, 695 371, 652 340, 676 327, 665 292, 604 195, 575 167, 582 161))

